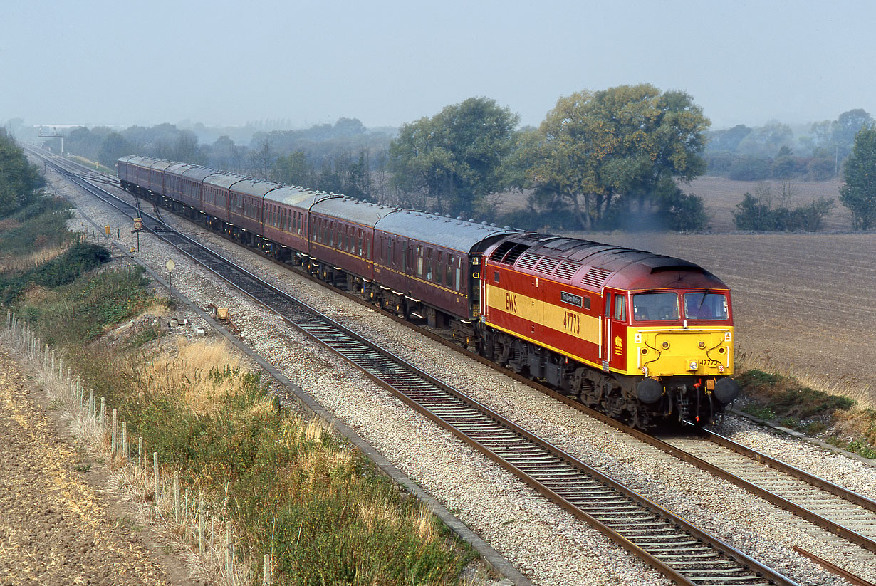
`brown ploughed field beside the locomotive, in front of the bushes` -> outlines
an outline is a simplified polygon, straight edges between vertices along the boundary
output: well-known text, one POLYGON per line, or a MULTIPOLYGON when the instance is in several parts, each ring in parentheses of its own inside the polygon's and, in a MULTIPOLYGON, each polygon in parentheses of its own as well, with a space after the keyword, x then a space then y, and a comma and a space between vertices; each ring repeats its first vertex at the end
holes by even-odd
POLYGON ((570 236, 703 266, 731 287, 745 364, 876 402, 876 234, 570 236))

